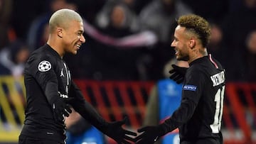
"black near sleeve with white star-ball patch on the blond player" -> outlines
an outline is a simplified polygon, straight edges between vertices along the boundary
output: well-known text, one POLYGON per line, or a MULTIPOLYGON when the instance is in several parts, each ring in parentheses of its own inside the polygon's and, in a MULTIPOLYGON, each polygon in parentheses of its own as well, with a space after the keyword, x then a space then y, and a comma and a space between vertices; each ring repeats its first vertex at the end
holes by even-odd
POLYGON ((28 60, 29 73, 36 79, 50 104, 58 98, 58 79, 55 74, 56 62, 48 56, 31 57, 28 60))

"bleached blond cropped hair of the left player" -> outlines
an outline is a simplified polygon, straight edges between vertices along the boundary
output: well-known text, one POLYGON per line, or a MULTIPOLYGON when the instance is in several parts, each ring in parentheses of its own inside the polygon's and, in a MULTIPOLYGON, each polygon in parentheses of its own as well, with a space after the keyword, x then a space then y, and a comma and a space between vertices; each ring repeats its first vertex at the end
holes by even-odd
POLYGON ((82 18, 77 12, 71 9, 60 9, 55 11, 55 13, 50 16, 49 32, 52 33, 57 27, 68 28, 70 21, 82 22, 82 18))

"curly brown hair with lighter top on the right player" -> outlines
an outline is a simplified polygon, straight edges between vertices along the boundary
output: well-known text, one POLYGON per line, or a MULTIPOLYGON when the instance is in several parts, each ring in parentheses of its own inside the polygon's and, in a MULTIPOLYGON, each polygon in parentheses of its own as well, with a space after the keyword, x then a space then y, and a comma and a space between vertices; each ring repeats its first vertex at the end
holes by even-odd
POLYGON ((178 25, 185 27, 188 31, 195 33, 204 48, 210 41, 210 25, 206 19, 195 14, 188 14, 178 18, 178 25))

